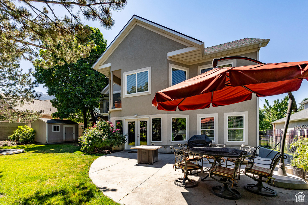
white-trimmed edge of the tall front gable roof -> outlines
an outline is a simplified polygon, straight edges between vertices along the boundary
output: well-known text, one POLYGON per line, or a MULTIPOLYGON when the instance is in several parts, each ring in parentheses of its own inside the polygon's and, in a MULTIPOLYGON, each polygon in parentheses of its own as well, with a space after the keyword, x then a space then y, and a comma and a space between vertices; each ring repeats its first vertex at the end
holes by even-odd
MULTIPOLYGON (((169 37, 172 39, 176 39, 178 42, 190 46, 196 46, 198 48, 202 48, 203 42, 200 40, 197 40, 196 38, 187 36, 185 34, 182 34, 180 32, 177 32, 175 30, 172 30, 168 27, 162 26, 158 23, 149 21, 145 18, 142 18, 137 15, 133 15, 132 18, 128 21, 128 23, 124 26, 124 28, 120 31, 120 33, 111 41, 110 45, 107 46, 106 50, 102 53, 102 55, 95 61, 95 63, 92 65, 92 68, 97 70, 99 69, 99 66, 104 63, 104 61, 107 59, 107 57, 113 52, 113 50, 117 47, 117 45, 120 44, 120 42, 128 35, 128 33, 132 30, 132 28, 135 25, 143 26, 147 29, 153 30, 159 34, 164 35, 165 37, 169 37)), ((108 70, 105 66, 102 67, 102 69, 108 70)), ((100 71, 101 72, 101 71, 100 71)), ((101 72, 103 73, 103 72, 101 72)), ((104 74, 104 73, 103 73, 104 74)), ((106 74, 104 74, 106 75, 106 74)), ((107 76, 109 73, 107 74, 107 76)))

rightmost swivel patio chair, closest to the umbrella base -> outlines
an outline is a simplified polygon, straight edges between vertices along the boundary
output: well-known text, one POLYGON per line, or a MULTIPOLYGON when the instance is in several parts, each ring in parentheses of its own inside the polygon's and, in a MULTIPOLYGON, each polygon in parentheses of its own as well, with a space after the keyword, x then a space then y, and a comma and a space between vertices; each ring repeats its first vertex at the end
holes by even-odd
MULTIPOLYGON (((282 152, 278 152, 273 159, 271 160, 262 160, 262 161, 271 161, 271 164, 264 164, 270 165, 270 168, 259 167, 254 164, 262 164, 257 162, 248 162, 248 165, 245 167, 245 175, 252 178, 254 181, 257 181, 257 184, 246 184, 244 188, 247 191, 250 191, 254 194, 262 195, 262 196, 277 196, 277 192, 269 187, 265 187, 262 182, 271 183, 273 178, 273 172, 278 164, 280 158, 286 159, 287 156, 284 155, 282 152), (249 175, 249 174, 253 175, 249 175), (254 175, 258 175, 259 178, 255 177, 254 175), (264 179, 263 179, 263 178, 264 179)), ((258 159, 259 160, 259 159, 258 159)))

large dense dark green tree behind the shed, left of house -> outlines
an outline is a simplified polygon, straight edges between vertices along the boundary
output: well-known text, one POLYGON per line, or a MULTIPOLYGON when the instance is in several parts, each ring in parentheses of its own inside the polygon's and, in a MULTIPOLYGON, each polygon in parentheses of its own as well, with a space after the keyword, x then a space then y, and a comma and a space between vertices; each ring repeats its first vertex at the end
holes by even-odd
POLYGON ((35 66, 37 81, 48 88, 49 95, 55 96, 51 103, 58 112, 51 116, 83 122, 85 127, 89 116, 95 120, 95 108, 99 107, 100 92, 107 84, 105 76, 91 68, 106 49, 107 41, 103 39, 99 29, 88 28, 91 30, 88 42, 95 44, 89 57, 79 59, 76 63, 50 66, 48 69, 35 66))

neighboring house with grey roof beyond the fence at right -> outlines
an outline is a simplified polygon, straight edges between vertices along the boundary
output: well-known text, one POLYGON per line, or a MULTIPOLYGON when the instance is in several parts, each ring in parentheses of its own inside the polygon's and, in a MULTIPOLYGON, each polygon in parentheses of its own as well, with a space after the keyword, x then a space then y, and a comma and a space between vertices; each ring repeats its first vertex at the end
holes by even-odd
MULTIPOLYGON (((299 104, 303 104, 304 109, 299 112, 295 112, 290 116, 290 122, 288 126, 289 129, 298 125, 308 125, 308 100, 302 101, 299 104)), ((286 117, 276 120, 271 124, 273 124, 273 129, 283 129, 285 122, 286 117)))

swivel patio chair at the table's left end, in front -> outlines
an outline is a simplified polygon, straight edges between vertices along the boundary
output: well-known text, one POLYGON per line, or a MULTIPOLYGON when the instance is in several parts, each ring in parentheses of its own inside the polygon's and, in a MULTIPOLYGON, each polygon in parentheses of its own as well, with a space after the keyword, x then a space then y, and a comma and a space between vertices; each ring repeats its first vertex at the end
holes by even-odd
POLYGON ((173 149, 175 164, 173 167, 176 169, 181 169, 184 173, 183 178, 178 178, 174 180, 174 183, 179 187, 196 187, 198 185, 196 180, 189 179, 188 175, 195 175, 202 171, 202 167, 199 164, 194 164, 191 161, 187 160, 187 154, 182 148, 176 149, 173 146, 170 146, 170 149, 173 149), (199 171, 200 170, 200 171, 199 171))

